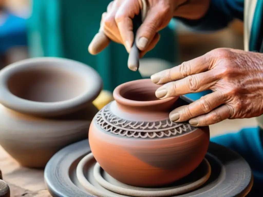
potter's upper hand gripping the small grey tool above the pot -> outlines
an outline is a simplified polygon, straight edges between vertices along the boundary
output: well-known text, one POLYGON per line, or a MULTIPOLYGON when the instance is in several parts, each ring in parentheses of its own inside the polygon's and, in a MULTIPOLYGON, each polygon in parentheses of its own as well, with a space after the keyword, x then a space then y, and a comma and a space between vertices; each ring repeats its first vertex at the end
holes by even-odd
MULTIPOLYGON (((135 42, 141 50, 142 57, 147 51, 154 48, 160 39, 158 32, 165 28, 173 16, 188 19, 198 19, 208 9, 210 0, 146 0, 147 15, 136 33, 135 42), (201 3, 200 3, 201 1, 201 3)), ((133 23, 132 19, 138 15, 143 7, 142 0, 115 0, 110 2, 107 12, 102 14, 100 32, 125 46, 130 51, 133 44, 133 23)), ((105 35, 96 35, 104 40, 103 42, 91 42, 89 52, 97 54, 109 44, 105 35), (98 46, 100 45, 100 46, 98 46)))

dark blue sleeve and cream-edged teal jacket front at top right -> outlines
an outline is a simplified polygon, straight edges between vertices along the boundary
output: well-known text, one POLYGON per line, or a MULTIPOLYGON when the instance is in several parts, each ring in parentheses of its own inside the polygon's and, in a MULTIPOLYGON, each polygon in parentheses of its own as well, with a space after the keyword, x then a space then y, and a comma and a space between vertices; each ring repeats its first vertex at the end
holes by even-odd
POLYGON ((198 20, 180 19, 186 25, 201 31, 215 31, 233 20, 244 21, 245 50, 260 51, 262 44, 263 0, 211 0, 205 16, 198 20), (246 38, 249 36, 249 38, 246 38))

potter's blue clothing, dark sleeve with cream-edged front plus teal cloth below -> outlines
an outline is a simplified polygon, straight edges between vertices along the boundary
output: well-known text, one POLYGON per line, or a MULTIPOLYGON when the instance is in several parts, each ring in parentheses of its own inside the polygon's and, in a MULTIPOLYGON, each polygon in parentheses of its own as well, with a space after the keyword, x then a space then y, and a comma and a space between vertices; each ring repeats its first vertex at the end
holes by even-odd
MULTIPOLYGON (((178 19, 199 31, 220 30, 233 19, 240 19, 244 21, 244 49, 263 53, 263 0, 211 0, 201 19, 178 19)), ((256 128, 245 128, 211 139, 247 160, 254 175, 254 186, 249 194, 253 197, 263 196, 263 115, 257 117, 257 121, 259 126, 256 128)))

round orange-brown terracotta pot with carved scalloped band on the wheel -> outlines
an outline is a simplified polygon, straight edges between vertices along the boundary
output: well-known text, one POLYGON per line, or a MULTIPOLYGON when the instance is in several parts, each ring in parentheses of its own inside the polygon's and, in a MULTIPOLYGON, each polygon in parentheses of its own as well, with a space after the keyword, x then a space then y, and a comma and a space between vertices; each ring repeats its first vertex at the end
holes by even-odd
POLYGON ((150 79, 118 86, 115 101, 91 123, 89 143, 95 159, 122 183, 169 184, 190 174, 208 150, 209 127, 171 122, 169 112, 182 100, 157 99, 158 87, 150 79))

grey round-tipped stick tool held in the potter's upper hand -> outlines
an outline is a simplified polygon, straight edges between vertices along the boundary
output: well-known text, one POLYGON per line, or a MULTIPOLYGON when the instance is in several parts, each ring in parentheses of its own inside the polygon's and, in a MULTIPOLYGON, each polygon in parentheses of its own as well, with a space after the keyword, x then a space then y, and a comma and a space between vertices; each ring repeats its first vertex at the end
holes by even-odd
POLYGON ((135 38, 136 33, 139 27, 141 26, 141 13, 139 15, 135 15, 133 18, 133 34, 134 34, 134 40, 133 45, 131 47, 129 58, 128 58, 128 68, 132 71, 136 71, 139 69, 139 58, 140 58, 140 50, 136 46, 135 38))

